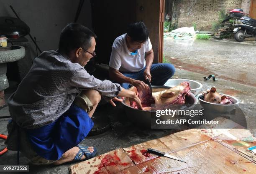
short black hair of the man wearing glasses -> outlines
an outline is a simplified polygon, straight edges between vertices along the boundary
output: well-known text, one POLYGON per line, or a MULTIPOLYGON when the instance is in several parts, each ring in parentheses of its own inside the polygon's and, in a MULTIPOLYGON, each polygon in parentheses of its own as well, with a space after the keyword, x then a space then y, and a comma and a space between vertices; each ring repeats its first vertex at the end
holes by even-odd
POLYGON ((97 36, 89 28, 78 23, 69 23, 61 31, 59 50, 66 54, 79 47, 87 50, 91 47, 92 37, 96 38, 97 36))

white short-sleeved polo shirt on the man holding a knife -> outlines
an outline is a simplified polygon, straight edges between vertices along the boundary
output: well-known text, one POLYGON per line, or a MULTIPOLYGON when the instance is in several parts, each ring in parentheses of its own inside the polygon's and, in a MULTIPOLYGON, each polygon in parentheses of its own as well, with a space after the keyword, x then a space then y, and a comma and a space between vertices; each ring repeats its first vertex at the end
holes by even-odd
POLYGON ((137 50, 136 55, 131 55, 125 41, 126 33, 117 37, 112 46, 109 66, 120 72, 138 72, 146 66, 145 52, 151 50, 150 39, 137 50))

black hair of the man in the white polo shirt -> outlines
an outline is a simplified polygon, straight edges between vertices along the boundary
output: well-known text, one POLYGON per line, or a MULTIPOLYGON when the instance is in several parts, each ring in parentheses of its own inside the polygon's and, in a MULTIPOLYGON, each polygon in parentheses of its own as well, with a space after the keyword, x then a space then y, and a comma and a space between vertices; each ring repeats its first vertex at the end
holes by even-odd
POLYGON ((136 42, 146 42, 148 40, 148 29, 143 22, 132 23, 128 26, 127 35, 136 42))

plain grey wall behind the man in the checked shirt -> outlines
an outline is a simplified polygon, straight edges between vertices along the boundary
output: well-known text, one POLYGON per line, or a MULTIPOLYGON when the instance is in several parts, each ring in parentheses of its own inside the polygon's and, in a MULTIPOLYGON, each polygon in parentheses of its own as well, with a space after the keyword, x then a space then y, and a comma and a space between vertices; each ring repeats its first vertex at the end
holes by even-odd
MULTIPOLYGON (((56 50, 61 29, 74 22, 79 0, 0 0, 0 16, 16 17, 12 5, 23 22, 30 27, 30 34, 44 50, 56 50)), ((77 21, 91 29, 90 0, 85 0, 77 21)), ((32 58, 36 57, 35 45, 31 42, 32 58)))

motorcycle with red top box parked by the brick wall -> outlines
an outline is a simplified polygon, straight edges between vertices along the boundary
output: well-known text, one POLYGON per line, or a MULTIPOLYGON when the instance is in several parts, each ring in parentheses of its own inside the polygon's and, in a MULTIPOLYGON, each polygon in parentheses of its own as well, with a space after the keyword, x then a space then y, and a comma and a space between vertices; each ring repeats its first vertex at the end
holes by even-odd
POLYGON ((243 42, 246 37, 256 36, 256 20, 251 17, 245 17, 242 9, 233 9, 229 12, 230 17, 234 17, 235 39, 243 42))

